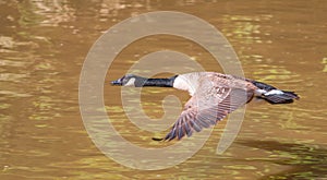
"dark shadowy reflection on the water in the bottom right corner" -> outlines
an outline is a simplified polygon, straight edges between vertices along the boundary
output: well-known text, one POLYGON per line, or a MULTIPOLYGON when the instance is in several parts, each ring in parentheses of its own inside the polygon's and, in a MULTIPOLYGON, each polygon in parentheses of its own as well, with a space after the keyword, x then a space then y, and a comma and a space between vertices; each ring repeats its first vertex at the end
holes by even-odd
POLYGON ((326 178, 327 149, 318 145, 310 146, 276 141, 244 141, 240 142, 240 144, 272 152, 272 154, 266 158, 247 158, 246 160, 267 161, 289 166, 289 168, 283 171, 263 177, 262 179, 326 178))

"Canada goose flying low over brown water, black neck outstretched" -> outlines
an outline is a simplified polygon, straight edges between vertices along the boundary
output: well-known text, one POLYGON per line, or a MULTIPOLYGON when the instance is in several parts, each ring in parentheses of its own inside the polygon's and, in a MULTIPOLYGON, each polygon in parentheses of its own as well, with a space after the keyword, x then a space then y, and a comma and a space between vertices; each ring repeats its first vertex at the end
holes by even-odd
POLYGON ((270 104, 289 104, 293 99, 299 99, 293 92, 216 72, 193 72, 169 79, 146 79, 128 74, 112 81, 111 84, 133 87, 174 87, 190 93, 191 98, 171 131, 164 139, 154 139, 156 141, 171 141, 175 137, 181 140, 184 135, 191 136, 194 131, 199 132, 203 128, 215 125, 227 113, 251 101, 254 96, 270 104))

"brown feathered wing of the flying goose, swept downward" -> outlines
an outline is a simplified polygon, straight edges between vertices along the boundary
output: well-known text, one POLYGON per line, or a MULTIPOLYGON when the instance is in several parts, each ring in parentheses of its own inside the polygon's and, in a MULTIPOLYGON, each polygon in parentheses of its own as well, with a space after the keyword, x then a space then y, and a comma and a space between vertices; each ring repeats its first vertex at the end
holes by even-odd
POLYGON ((213 87, 208 92, 195 94, 185 104, 181 116, 164 140, 181 140, 184 135, 191 136, 194 131, 199 132, 203 128, 215 125, 228 113, 246 104, 253 94, 253 91, 229 87, 213 87), (213 89, 216 92, 210 92, 213 89))

